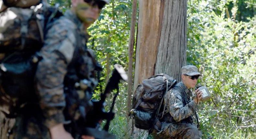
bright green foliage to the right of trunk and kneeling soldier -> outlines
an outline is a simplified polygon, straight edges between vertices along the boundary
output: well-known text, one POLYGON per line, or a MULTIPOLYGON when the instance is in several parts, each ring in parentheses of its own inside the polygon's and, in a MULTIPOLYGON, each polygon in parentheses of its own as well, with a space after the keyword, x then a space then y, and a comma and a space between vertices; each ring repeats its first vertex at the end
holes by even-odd
MULTIPOLYGON (((212 94, 211 102, 201 104, 199 116, 204 136, 216 138, 252 137, 256 104, 256 16, 247 22, 236 20, 237 0, 223 0, 217 11, 209 1, 191 0, 188 9, 187 62, 201 67, 200 80, 212 94), (225 7, 232 3, 231 18, 225 7), (221 131, 226 131, 220 134, 221 131)), ((245 11, 240 11, 245 12, 245 11)))

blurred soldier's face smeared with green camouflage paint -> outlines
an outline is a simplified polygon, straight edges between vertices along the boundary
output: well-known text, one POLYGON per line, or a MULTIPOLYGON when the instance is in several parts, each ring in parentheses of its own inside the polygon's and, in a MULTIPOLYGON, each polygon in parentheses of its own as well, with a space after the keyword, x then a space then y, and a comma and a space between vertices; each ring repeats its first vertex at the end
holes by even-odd
POLYGON ((77 17, 89 27, 95 20, 98 19, 101 9, 98 5, 92 5, 92 3, 86 3, 84 0, 73 0, 73 9, 76 12, 77 17))

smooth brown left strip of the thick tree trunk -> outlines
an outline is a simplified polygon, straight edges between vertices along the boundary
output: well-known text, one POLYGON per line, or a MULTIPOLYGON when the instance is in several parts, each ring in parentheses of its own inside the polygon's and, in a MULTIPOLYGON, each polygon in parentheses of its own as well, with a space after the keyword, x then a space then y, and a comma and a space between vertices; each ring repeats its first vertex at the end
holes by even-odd
POLYGON ((140 0, 138 36, 134 71, 134 90, 141 81, 155 73, 161 35, 164 0, 140 0))

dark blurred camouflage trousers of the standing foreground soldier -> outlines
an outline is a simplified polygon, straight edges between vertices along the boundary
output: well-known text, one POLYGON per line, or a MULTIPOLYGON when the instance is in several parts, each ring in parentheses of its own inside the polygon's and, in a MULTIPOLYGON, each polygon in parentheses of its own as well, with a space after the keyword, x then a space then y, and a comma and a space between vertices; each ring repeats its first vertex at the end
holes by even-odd
POLYGON ((40 109, 24 109, 16 118, 0 112, 0 139, 51 139, 40 109))

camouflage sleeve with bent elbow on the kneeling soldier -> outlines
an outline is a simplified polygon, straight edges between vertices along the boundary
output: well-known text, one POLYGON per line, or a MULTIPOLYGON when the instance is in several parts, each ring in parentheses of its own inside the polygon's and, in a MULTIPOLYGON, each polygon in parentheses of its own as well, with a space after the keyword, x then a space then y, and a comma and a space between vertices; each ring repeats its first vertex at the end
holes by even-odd
POLYGON ((176 122, 191 116, 196 109, 194 101, 183 106, 181 93, 177 90, 170 90, 164 97, 167 109, 176 122))

